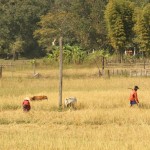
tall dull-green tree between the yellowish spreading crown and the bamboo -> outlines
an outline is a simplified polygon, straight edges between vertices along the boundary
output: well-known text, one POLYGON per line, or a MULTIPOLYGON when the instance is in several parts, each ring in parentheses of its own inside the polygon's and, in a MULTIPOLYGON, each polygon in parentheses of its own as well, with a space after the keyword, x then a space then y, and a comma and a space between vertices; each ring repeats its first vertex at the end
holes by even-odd
POLYGON ((106 46, 104 9, 107 0, 57 0, 55 10, 72 14, 72 31, 65 41, 93 50, 106 46))

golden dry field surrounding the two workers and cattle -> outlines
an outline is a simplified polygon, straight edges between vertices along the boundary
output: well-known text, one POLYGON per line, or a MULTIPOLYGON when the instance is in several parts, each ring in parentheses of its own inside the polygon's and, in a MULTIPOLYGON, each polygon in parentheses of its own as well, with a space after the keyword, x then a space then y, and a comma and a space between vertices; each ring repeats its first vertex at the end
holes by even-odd
POLYGON ((149 150, 150 78, 98 78, 94 69, 66 69, 63 101, 75 96, 77 110, 58 110, 58 71, 41 70, 46 77, 5 71, 0 80, 0 149, 2 150, 149 150), (130 108, 134 85, 140 107, 130 108), (47 95, 48 101, 31 102, 26 96, 47 95))

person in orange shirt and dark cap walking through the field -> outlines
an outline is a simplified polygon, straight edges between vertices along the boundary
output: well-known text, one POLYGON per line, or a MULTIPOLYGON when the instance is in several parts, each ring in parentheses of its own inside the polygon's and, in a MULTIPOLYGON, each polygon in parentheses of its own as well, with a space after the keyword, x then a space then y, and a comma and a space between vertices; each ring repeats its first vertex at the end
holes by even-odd
POLYGON ((130 105, 131 106, 133 106, 135 104, 138 105, 138 103, 139 103, 138 95, 137 95, 137 90, 138 89, 139 89, 139 87, 135 86, 134 89, 130 93, 129 100, 130 100, 130 105))

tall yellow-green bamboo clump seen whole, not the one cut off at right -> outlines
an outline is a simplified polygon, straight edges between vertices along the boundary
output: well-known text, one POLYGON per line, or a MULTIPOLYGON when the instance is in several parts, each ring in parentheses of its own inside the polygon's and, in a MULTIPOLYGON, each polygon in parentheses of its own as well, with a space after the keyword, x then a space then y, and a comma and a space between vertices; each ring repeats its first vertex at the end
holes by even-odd
POLYGON ((122 61, 125 46, 132 43, 133 39, 133 3, 125 0, 113 0, 106 6, 105 20, 108 38, 111 45, 122 61))

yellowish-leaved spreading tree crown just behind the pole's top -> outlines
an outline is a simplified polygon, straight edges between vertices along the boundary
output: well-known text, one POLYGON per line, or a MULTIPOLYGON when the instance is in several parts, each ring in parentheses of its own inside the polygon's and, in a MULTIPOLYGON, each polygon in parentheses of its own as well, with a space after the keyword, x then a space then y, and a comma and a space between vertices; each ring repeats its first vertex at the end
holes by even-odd
POLYGON ((65 11, 48 13, 41 17, 38 23, 39 29, 34 32, 34 37, 38 39, 41 46, 48 51, 52 49, 52 42, 60 36, 65 37, 71 27, 71 14, 65 11))

